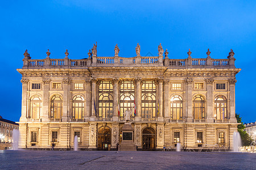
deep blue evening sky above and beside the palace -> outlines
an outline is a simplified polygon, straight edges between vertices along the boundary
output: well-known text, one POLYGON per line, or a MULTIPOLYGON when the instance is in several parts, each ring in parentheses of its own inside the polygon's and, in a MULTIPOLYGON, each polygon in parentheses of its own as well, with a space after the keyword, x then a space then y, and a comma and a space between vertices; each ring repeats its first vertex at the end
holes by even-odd
POLYGON ((256 1, 2 1, 0 5, 0 115, 19 121, 23 66, 32 59, 87 58, 95 41, 98 56, 157 56, 161 42, 170 58, 226 58, 234 50, 237 74, 236 112, 256 121, 256 1))

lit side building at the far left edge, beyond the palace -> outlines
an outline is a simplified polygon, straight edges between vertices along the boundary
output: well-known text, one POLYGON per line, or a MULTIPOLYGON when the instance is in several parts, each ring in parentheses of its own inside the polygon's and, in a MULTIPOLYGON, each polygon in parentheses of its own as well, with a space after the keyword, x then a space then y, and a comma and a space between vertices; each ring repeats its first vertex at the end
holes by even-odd
POLYGON ((18 130, 19 124, 0 116, 0 150, 12 147, 14 129, 18 130))

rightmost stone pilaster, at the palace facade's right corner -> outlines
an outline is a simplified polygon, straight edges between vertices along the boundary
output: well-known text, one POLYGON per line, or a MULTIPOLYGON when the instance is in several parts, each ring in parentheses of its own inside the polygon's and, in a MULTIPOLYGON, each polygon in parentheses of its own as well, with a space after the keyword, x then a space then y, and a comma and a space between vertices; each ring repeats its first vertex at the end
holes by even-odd
POLYGON ((229 108, 230 108, 230 122, 237 123, 236 119, 236 101, 235 101, 235 85, 237 80, 236 79, 229 79, 229 108))

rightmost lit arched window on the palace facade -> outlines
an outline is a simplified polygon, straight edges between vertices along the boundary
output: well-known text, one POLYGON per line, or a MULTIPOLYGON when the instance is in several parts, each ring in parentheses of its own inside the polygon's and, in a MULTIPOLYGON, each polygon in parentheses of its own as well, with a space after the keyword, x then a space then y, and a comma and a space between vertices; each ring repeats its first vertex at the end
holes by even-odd
POLYGON ((223 95, 218 95, 214 100, 214 117, 216 120, 228 119, 228 114, 226 113, 226 97, 223 95))

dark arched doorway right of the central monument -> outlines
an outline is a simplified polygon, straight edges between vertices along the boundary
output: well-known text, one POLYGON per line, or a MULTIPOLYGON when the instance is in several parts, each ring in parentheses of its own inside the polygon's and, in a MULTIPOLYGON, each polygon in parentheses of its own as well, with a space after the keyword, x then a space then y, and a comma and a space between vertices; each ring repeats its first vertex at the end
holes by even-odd
POLYGON ((155 150, 155 130, 153 128, 145 128, 142 132, 142 150, 155 150))

